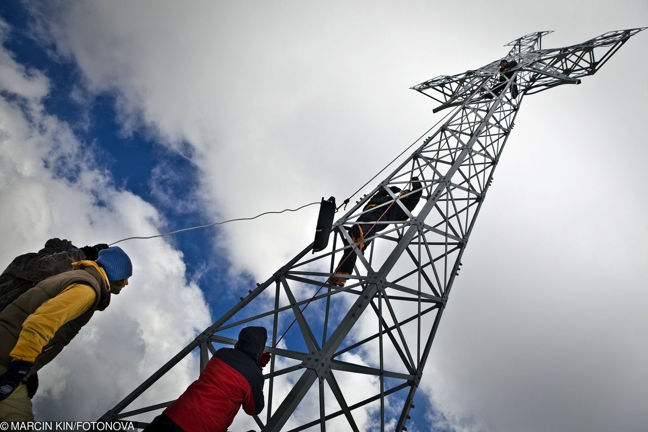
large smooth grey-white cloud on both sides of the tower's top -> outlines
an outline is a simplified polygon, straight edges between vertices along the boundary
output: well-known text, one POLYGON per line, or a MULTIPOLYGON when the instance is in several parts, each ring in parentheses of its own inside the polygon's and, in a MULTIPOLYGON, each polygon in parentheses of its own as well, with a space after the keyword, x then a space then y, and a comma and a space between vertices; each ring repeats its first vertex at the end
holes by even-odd
MULTIPOLYGON (((60 53, 117 95, 124 131, 191 156, 224 219, 346 197, 441 117, 406 90, 417 82, 532 31, 563 46, 648 16, 642 1, 57 5, 60 53)), ((422 383, 457 430, 648 422, 645 37, 581 86, 525 99, 422 383)), ((315 215, 231 224, 218 240, 265 280, 312 239, 315 215)))

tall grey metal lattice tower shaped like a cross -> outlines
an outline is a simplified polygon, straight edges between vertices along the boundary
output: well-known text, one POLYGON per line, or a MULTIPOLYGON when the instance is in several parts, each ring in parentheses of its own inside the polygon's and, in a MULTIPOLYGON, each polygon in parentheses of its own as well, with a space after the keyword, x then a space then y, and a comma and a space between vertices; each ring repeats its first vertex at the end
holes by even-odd
POLYGON ((434 112, 455 109, 334 222, 331 245, 299 252, 100 420, 137 422, 142 414, 159 413, 172 401, 150 405, 143 396, 158 379, 194 350, 202 370, 217 348, 236 342, 241 328, 259 325, 269 330, 266 351, 273 354, 264 370, 266 408, 255 416, 262 431, 359 431, 367 418, 381 431, 406 430, 461 256, 522 99, 579 84, 643 29, 607 32, 557 49, 542 49, 550 32, 535 32, 505 45, 514 67, 500 70, 498 59, 414 86, 440 103, 434 112), (413 177, 422 197, 410 211, 401 200, 418 191, 396 195, 391 187, 409 190, 417 183, 413 177), (365 210, 379 191, 391 200, 365 210), (403 217, 378 218, 371 223, 382 230, 369 230, 362 245, 358 238, 354 243, 349 230, 359 217, 378 208, 391 214, 394 206, 403 217), (356 256, 354 271, 336 273, 349 254, 356 256), (332 275, 345 285, 332 284, 332 275))

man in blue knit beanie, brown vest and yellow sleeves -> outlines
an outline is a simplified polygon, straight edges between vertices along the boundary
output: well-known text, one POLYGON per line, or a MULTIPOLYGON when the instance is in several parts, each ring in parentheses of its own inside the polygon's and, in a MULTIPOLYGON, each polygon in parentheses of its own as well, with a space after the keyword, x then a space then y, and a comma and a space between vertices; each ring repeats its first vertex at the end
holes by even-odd
POLYGON ((128 285, 133 265, 122 248, 98 251, 96 261, 72 263, 0 312, 0 420, 33 421, 25 381, 56 357, 111 294, 128 285))

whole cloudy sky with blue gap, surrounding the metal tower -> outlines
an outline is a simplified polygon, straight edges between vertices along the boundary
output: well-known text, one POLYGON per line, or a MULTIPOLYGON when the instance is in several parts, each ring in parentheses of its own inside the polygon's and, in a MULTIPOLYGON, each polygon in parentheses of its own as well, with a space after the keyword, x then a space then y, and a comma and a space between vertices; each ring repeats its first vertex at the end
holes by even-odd
MULTIPOLYGON (((0 263, 50 237, 342 200, 445 115, 409 87, 529 32, 561 47, 645 25, 645 0, 3 2, 0 263)), ((647 38, 525 99, 410 430, 645 430, 647 38)), ((43 369, 37 418, 106 412, 310 243, 316 215, 124 242, 131 283, 43 369)))

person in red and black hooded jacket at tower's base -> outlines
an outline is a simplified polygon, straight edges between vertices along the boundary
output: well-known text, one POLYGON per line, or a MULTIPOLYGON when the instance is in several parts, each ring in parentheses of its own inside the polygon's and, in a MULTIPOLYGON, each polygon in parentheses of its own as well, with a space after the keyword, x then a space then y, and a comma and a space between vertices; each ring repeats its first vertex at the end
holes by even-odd
POLYGON ((238 409, 259 414, 265 406, 262 369, 270 361, 264 352, 268 332, 246 327, 234 348, 220 348, 205 370, 162 414, 147 432, 225 432, 238 409))

